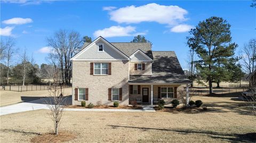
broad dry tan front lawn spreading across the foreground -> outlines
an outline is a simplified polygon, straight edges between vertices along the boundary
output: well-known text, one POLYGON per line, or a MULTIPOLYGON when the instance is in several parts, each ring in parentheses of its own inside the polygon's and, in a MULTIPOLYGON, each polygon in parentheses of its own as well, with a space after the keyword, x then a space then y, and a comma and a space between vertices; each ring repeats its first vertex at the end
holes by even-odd
MULTIPOLYGON (((194 96, 209 108, 199 112, 65 111, 60 130, 76 134, 70 142, 255 142, 255 116, 228 96, 194 96)), ((1 142, 29 142, 52 132, 47 112, 1 116, 1 142)))

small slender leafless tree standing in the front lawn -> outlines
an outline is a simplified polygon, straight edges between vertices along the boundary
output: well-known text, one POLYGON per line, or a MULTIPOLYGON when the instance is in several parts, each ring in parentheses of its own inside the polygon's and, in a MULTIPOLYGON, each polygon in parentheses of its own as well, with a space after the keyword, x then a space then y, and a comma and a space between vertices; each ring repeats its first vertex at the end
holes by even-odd
POLYGON ((65 97, 63 96, 58 71, 53 75, 53 87, 49 89, 49 100, 46 100, 46 104, 50 109, 49 117, 54 122, 54 134, 58 134, 63 113, 61 106, 65 105, 65 97))

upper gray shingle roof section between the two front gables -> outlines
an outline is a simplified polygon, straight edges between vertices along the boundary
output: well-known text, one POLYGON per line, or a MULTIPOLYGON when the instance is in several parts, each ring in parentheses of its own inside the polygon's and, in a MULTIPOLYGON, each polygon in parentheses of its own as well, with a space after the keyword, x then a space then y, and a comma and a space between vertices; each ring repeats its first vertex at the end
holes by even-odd
POLYGON ((153 59, 150 43, 111 43, 125 55, 131 56, 134 52, 141 49, 147 56, 153 59))

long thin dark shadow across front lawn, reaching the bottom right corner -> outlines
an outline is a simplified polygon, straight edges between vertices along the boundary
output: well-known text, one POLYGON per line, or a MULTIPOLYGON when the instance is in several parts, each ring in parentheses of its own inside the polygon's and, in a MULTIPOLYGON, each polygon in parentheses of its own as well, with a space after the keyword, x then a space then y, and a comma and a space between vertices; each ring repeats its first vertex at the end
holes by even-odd
POLYGON ((214 138, 214 139, 221 139, 230 142, 254 142, 256 140, 256 133, 245 133, 245 134, 238 134, 238 133, 221 133, 215 131, 203 131, 203 130, 182 130, 182 129, 160 129, 160 128, 146 128, 146 127, 131 127, 131 126, 124 126, 124 125, 108 125, 113 129, 116 128, 132 128, 132 129, 141 129, 141 130, 158 130, 158 131, 173 131, 181 134, 189 134, 189 133, 196 133, 198 135, 206 134, 207 136, 214 138))

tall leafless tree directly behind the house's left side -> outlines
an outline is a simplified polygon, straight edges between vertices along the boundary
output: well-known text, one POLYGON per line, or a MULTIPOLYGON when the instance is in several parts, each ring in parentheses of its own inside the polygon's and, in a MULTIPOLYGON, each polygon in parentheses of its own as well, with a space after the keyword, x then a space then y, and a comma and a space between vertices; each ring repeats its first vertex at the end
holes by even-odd
POLYGON ((81 36, 76 31, 59 30, 52 37, 46 38, 46 41, 47 45, 53 48, 53 52, 49 54, 50 61, 58 65, 55 63, 58 59, 62 82, 69 84, 72 76, 70 58, 76 54, 77 49, 81 48, 83 42, 81 36))

